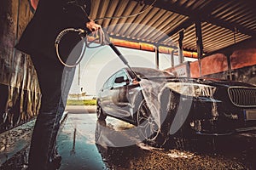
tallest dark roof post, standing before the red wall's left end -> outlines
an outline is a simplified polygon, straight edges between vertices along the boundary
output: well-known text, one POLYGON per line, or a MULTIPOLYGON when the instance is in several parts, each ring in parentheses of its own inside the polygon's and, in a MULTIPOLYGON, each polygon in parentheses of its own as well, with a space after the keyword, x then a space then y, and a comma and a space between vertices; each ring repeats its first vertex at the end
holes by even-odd
POLYGON ((197 54, 198 54, 199 73, 200 73, 200 77, 201 77, 201 59, 202 59, 202 54, 203 54, 201 20, 195 21, 195 32, 196 32, 196 47, 197 47, 197 54))

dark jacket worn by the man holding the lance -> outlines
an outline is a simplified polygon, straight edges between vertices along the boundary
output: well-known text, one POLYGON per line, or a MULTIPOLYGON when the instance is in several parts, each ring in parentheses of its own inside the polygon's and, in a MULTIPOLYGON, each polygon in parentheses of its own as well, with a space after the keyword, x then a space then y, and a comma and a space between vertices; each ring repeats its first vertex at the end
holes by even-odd
POLYGON ((89 14, 90 0, 39 0, 15 48, 32 56, 56 59, 55 38, 66 28, 86 29, 89 14))

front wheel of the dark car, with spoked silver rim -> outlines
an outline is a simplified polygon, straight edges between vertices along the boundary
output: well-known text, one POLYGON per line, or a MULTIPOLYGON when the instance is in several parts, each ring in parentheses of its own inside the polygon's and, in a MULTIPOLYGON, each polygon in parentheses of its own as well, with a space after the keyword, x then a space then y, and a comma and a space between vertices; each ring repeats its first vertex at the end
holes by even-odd
POLYGON ((143 141, 147 144, 160 147, 166 143, 167 138, 160 133, 158 118, 152 116, 145 99, 137 110, 137 127, 143 141))

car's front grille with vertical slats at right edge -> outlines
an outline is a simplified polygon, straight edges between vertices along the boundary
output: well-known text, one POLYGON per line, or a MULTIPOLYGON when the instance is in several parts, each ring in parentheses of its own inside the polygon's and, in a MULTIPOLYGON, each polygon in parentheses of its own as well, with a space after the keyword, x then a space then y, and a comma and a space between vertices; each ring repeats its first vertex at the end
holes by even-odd
POLYGON ((256 107, 256 88, 229 88, 230 99, 240 107, 256 107))

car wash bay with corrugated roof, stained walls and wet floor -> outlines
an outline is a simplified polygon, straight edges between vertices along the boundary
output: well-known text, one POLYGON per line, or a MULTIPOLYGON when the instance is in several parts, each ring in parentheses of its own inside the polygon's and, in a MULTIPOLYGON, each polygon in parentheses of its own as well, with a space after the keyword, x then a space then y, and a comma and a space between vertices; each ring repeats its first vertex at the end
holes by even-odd
MULTIPOLYGON (((0 7, 0 168, 19 169, 27 161, 40 89, 30 57, 19 54, 14 46, 36 6, 32 0, 3 0, 0 7)), ((147 7, 149 10, 136 17, 98 23, 115 45, 154 52, 155 68, 161 66, 160 54, 166 54, 170 57, 166 71, 180 77, 213 77, 256 85, 254 3, 95 0, 91 18, 129 15, 147 7), (185 58, 196 60, 183 62, 185 58)), ((255 133, 195 140, 186 147, 179 139, 162 149, 142 143, 104 147, 95 143, 101 132, 98 123, 114 131, 131 125, 109 117, 106 122, 97 122, 95 111, 81 108, 68 110, 63 118, 58 137, 61 169, 256 168, 255 133)))

